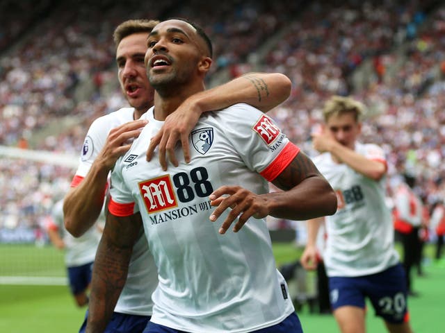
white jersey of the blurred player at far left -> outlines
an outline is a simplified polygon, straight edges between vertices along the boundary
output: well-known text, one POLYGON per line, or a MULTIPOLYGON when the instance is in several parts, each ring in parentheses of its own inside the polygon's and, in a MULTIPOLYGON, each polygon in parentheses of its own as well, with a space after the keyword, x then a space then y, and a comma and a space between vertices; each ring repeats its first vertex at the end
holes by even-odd
POLYGON ((63 200, 56 202, 51 210, 51 217, 65 243, 65 265, 76 267, 94 262, 101 237, 99 230, 94 226, 81 237, 73 237, 63 223, 63 200))

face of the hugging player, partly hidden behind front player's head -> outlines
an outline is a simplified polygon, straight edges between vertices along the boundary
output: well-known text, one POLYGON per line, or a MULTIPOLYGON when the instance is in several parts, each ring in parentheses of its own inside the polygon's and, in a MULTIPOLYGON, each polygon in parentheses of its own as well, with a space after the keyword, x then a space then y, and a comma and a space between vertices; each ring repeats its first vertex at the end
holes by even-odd
POLYGON ((153 105, 154 89, 148 82, 144 56, 148 33, 124 37, 116 50, 120 87, 129 104, 140 112, 153 105))

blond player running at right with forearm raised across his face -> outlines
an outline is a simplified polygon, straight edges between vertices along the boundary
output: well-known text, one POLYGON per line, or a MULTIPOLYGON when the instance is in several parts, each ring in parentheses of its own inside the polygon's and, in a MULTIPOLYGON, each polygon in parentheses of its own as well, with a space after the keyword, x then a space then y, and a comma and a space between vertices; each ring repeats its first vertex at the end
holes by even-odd
POLYGON ((375 144, 357 141, 364 105, 332 96, 323 108, 325 125, 312 136, 321 153, 316 167, 337 194, 337 213, 312 219, 301 262, 314 269, 316 234, 325 220, 323 259, 333 314, 343 333, 364 333, 365 297, 391 333, 411 333, 405 272, 394 248, 394 228, 385 203, 385 154, 375 144))

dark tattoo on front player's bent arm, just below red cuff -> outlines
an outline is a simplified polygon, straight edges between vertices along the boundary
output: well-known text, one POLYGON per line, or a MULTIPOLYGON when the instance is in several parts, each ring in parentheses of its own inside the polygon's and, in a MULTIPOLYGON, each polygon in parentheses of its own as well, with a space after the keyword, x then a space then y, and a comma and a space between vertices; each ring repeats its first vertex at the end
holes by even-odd
POLYGON ((302 180, 318 175, 319 171, 315 164, 300 151, 291 164, 273 181, 273 184, 286 191, 300 184, 302 180))

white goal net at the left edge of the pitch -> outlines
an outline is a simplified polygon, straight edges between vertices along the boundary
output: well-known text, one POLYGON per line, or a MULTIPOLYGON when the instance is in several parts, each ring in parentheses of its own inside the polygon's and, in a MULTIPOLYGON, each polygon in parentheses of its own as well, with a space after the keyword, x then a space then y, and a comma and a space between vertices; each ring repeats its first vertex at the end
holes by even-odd
POLYGON ((66 284, 63 250, 47 237, 78 156, 0 146, 0 284, 66 284))

